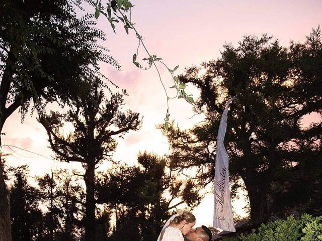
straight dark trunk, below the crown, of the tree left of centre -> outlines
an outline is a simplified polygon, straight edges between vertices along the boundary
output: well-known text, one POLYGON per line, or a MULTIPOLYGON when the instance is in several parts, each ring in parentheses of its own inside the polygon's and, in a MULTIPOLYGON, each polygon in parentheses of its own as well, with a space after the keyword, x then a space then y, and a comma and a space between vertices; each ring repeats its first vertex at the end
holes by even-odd
POLYGON ((85 241, 95 241, 95 165, 88 164, 85 176, 85 241))

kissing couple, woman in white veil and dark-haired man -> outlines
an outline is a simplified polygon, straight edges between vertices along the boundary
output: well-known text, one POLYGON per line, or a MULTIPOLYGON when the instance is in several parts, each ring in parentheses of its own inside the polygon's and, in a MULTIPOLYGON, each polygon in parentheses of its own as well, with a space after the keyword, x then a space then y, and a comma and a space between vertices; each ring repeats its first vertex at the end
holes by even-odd
POLYGON ((157 241, 210 241, 212 233, 204 225, 193 228, 196 217, 188 211, 177 210, 164 225, 157 241))

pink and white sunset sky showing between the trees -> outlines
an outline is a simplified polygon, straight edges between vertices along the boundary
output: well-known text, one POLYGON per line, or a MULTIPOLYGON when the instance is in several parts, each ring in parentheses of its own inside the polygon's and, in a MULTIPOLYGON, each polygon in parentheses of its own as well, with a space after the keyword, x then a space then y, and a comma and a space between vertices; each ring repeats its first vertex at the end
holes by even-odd
MULTIPOLYGON (((102 1, 104 2, 104 1, 102 1)), ((140 0, 131 1, 135 7, 132 20, 136 23, 140 35, 151 54, 163 58, 169 68, 180 65, 176 74, 184 72, 185 67, 198 65, 203 61, 216 59, 220 56, 225 43, 237 45, 244 35, 274 36, 283 46, 288 46, 290 40, 304 42, 312 28, 322 25, 322 0, 140 0)), ((94 13, 95 10, 86 7, 94 13)), ((136 163, 138 152, 153 152, 158 155, 169 151, 167 139, 155 126, 163 123, 167 110, 166 96, 154 69, 142 71, 132 64, 138 40, 134 32, 125 33, 122 25, 116 26, 113 33, 109 22, 100 16, 98 28, 106 33, 104 44, 110 49, 110 54, 121 65, 121 71, 112 66, 102 65, 102 72, 115 84, 127 90, 124 109, 130 108, 143 116, 143 125, 137 132, 128 133, 119 140, 114 159, 129 164, 136 163)), ((148 57, 139 52, 138 59, 148 57)), ((159 66, 162 79, 170 91, 171 75, 163 66, 159 66)), ((114 89, 117 91, 117 89, 114 89)), ((191 86, 188 93, 198 97, 198 91, 191 86)), ((55 104, 48 106, 57 109, 55 104)), ((171 117, 183 128, 189 128, 202 120, 201 115, 194 115, 192 105, 183 99, 170 101, 171 117), (193 117, 192 117, 193 116, 193 117)), ((320 116, 311 115, 307 122, 319 121, 320 116)), ((18 166, 28 164, 32 175, 42 175, 51 168, 77 168, 76 163, 62 164, 51 161, 52 152, 48 148, 44 128, 37 123, 36 114, 28 114, 23 124, 21 116, 16 111, 7 120, 3 132, 3 144, 17 146, 44 157, 6 148, 12 157, 7 158, 7 164, 18 166)), ((107 166, 100 167, 100 170, 107 166)), ((238 209, 242 202, 235 202, 238 209)), ((212 224, 213 196, 207 195, 201 205, 194 210, 197 226, 212 224)))

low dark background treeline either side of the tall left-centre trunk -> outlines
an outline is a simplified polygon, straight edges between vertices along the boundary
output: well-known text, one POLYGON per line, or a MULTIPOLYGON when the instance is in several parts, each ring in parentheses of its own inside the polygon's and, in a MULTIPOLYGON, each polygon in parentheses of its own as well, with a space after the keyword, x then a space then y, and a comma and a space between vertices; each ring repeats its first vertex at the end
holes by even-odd
MULTIPOLYGON (((199 203, 198 189, 177 180, 168 161, 139 154, 138 165, 117 164, 96 180, 96 240, 156 240, 169 210, 199 203), (165 191, 170 195, 165 197, 165 191), (175 198, 183 201, 175 205, 175 198), (173 202, 172 202, 173 203, 173 202)), ((32 178, 27 165, 9 168, 12 240, 84 240, 86 189, 81 178, 56 170, 32 178)))

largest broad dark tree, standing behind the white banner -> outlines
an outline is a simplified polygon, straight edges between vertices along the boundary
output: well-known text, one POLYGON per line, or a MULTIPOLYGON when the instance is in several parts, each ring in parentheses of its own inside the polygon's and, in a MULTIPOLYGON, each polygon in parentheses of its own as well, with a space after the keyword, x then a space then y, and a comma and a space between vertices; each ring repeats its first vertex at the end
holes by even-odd
POLYGON ((220 58, 202 64, 205 74, 191 67, 179 76, 200 89, 195 111, 205 114, 205 122, 189 131, 172 128, 165 134, 172 147, 171 165, 179 170, 198 167, 196 178, 212 182, 221 113, 226 100, 237 95, 225 137, 229 174, 233 190, 243 179, 251 218, 258 225, 272 211, 267 195, 277 170, 320 152, 321 123, 301 127, 306 114, 322 110, 320 29, 313 30, 304 44, 291 42, 288 48, 266 35, 246 36, 237 48, 224 48, 220 58))

